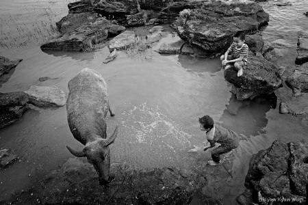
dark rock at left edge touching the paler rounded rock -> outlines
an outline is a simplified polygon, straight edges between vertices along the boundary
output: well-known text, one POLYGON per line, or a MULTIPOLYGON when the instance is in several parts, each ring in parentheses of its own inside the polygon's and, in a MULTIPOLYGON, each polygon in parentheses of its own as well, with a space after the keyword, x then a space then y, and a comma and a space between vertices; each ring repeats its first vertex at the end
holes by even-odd
POLYGON ((0 128, 19 120, 29 109, 29 95, 24 92, 0 92, 0 128))

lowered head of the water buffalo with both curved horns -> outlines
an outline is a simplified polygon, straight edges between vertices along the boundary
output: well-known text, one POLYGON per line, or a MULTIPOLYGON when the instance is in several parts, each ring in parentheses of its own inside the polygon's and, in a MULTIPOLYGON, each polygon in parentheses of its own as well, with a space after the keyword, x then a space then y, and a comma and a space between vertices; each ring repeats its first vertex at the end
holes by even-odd
POLYGON ((110 176, 110 150, 109 146, 116 139, 118 134, 118 126, 114 130, 114 133, 108 139, 97 139, 95 141, 90 141, 86 143, 84 150, 75 151, 69 146, 66 146, 70 153, 75 156, 86 156, 88 162, 91 163, 97 174, 99 174, 99 184, 107 185, 113 179, 114 176, 110 176))

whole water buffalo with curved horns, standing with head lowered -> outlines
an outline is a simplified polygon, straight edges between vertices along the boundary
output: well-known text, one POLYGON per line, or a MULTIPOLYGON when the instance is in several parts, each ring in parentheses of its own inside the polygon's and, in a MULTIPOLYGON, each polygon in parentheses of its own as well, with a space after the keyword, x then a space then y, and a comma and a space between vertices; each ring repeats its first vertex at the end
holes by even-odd
POLYGON ((107 138, 105 117, 110 109, 107 84, 99 72, 84 68, 68 82, 66 102, 67 121, 75 139, 84 144, 84 149, 75 151, 66 146, 75 156, 86 156, 99 174, 99 184, 107 185, 110 176, 109 147, 118 133, 118 126, 111 137, 107 138))

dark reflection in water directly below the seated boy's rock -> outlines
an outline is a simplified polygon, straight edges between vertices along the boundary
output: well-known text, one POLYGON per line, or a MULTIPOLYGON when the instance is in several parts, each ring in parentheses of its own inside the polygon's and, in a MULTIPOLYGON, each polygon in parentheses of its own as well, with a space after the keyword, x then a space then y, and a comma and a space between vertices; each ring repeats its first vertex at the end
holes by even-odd
POLYGON ((277 96, 273 93, 253 100, 239 101, 232 94, 226 107, 220 118, 222 126, 238 134, 255 136, 264 133, 263 128, 268 124, 266 113, 270 109, 276 109, 277 96))

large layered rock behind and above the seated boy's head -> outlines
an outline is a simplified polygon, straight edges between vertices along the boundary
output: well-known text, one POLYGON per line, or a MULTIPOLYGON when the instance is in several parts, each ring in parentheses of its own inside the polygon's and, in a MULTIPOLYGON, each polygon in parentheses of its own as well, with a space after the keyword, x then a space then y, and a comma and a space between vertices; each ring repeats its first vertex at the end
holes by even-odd
POLYGON ((253 34, 268 23, 269 15, 258 4, 242 3, 236 8, 240 8, 240 12, 234 11, 235 5, 192 9, 185 18, 175 20, 177 33, 192 46, 203 49, 209 57, 216 57, 228 49, 236 31, 253 34))

